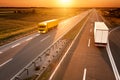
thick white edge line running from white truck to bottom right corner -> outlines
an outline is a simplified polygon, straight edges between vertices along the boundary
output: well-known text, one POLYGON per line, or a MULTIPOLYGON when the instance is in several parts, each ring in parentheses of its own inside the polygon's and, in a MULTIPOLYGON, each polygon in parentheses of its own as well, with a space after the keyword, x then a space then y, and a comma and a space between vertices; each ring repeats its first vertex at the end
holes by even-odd
POLYGON ((112 69, 113 69, 115 78, 116 78, 116 80, 120 80, 120 75, 119 75, 119 72, 118 72, 118 70, 117 70, 115 61, 114 61, 114 59, 113 59, 113 56, 112 56, 112 53, 111 53, 111 50, 110 50, 110 47, 109 47, 109 41, 108 41, 108 45, 107 45, 107 47, 106 47, 106 50, 107 50, 107 53, 108 53, 108 56, 109 56, 109 59, 110 59, 110 63, 111 63, 111 65, 112 65, 112 69))

